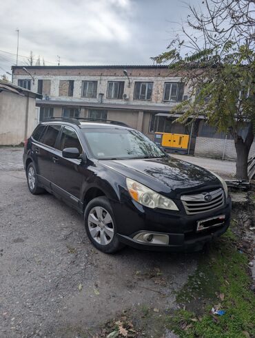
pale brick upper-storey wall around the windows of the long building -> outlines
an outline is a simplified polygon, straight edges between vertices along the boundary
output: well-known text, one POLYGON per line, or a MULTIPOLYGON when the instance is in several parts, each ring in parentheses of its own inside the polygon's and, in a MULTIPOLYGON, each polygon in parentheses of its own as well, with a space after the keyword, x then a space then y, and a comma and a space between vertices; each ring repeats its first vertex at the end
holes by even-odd
MULTIPOLYGON (((123 74, 123 69, 115 68, 29 68, 32 76, 34 76, 34 84, 31 83, 31 90, 37 92, 38 80, 47 80, 51 82, 51 89, 48 96, 51 99, 64 101, 81 101, 81 102, 99 102, 99 93, 103 94, 103 103, 118 104, 141 104, 141 105, 165 105, 174 107, 176 103, 163 101, 164 83, 180 82, 181 74, 176 76, 174 72, 170 72, 167 68, 128 68, 128 76, 130 76, 131 85, 128 86, 128 78, 123 74), (68 96, 67 83, 68 80, 74 81, 73 96, 68 96), (82 98, 81 89, 82 81, 98 81, 97 97, 82 98), (128 95, 128 100, 106 98, 108 81, 124 81, 124 94, 128 95), (136 81, 153 82, 152 98, 150 101, 133 100, 134 83, 136 81)), ((17 84, 19 79, 29 78, 28 74, 22 68, 14 68, 13 83, 17 84)), ((44 82, 44 81, 43 81, 44 82)), ((185 87, 184 95, 188 94, 188 88, 185 87)), ((167 109, 166 108, 166 109, 167 109)))

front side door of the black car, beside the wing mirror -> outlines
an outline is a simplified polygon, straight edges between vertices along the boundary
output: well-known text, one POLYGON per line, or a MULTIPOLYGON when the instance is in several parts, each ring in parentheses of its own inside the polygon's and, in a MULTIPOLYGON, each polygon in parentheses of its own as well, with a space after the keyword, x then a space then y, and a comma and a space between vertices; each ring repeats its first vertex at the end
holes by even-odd
POLYGON ((62 151, 65 148, 83 148, 76 131, 69 126, 64 126, 57 145, 57 160, 52 167, 52 190, 63 196, 74 207, 79 208, 81 200, 81 187, 85 178, 86 165, 81 159, 63 158, 62 151))

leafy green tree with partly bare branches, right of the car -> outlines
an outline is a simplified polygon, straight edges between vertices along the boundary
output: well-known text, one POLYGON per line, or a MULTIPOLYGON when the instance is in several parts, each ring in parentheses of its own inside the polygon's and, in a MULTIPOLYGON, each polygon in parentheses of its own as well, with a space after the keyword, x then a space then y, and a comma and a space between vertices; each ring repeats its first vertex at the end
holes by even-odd
POLYGON ((247 160, 255 129, 255 1, 205 0, 190 6, 187 21, 167 51, 152 58, 167 63, 189 87, 177 105, 179 122, 203 115, 236 147, 236 177, 247 180, 247 160), (245 129, 245 136, 243 130, 245 129))

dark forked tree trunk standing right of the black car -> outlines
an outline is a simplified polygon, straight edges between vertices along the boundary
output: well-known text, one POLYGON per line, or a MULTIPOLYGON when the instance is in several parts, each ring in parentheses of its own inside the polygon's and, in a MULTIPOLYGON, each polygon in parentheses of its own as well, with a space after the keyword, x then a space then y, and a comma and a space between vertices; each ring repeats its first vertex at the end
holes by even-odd
POLYGON ((242 136, 236 136, 234 141, 236 147, 236 178, 238 180, 248 180, 248 156, 253 140, 253 127, 250 123, 245 141, 242 136))

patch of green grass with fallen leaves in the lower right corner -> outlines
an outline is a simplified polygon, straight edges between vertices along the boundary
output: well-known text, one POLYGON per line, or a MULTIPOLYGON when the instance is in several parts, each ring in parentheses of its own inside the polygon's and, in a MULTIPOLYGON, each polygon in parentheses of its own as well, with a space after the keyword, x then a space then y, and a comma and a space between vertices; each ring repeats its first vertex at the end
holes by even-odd
POLYGON ((177 301, 187 309, 165 319, 167 328, 180 337, 255 336, 255 297, 250 290, 248 259, 236 249, 236 240, 229 229, 211 246, 207 257, 201 258, 196 273, 179 292, 177 301), (225 315, 210 313, 216 305, 225 315))

